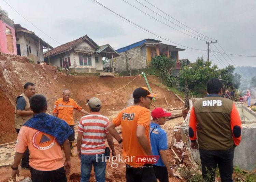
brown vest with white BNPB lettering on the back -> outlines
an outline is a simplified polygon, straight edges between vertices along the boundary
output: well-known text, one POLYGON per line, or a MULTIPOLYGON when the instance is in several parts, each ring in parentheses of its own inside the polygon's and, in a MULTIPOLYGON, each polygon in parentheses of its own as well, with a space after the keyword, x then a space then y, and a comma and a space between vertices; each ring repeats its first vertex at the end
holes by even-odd
POLYGON ((227 150, 233 145, 230 113, 233 101, 222 97, 205 97, 194 103, 199 148, 227 150))

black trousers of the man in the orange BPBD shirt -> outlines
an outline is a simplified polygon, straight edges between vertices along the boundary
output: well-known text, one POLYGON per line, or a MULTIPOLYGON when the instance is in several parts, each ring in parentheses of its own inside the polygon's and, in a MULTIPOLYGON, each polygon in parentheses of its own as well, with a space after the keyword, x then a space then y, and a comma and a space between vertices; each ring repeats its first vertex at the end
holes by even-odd
POLYGON ((126 182, 157 182, 152 164, 131 167, 126 164, 126 182))

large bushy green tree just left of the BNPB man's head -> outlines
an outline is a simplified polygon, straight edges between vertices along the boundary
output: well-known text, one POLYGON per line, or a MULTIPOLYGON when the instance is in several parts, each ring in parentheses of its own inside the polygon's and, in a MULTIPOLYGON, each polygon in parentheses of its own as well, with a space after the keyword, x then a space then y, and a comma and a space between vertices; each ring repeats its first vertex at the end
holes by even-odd
POLYGON ((188 89, 199 91, 206 90, 206 83, 211 78, 219 78, 220 72, 217 65, 212 66, 212 61, 204 61, 203 57, 197 58, 196 62, 185 66, 179 73, 179 85, 181 89, 185 86, 187 78, 188 89))

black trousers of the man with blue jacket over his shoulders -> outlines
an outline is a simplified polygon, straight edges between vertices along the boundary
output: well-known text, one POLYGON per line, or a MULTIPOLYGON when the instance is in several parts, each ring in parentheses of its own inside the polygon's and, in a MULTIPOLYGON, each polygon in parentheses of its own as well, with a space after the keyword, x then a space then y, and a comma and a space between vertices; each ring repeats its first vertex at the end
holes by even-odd
POLYGON ((30 168, 32 182, 67 182, 64 167, 53 171, 40 171, 30 168))

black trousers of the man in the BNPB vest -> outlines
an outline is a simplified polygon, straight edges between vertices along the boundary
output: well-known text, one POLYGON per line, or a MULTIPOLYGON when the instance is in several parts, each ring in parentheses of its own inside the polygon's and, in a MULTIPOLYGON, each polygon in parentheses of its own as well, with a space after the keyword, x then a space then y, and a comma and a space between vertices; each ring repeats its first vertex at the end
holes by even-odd
POLYGON ((234 147, 228 150, 199 149, 202 163, 202 174, 205 181, 214 182, 215 169, 218 165, 222 182, 233 182, 234 147))

